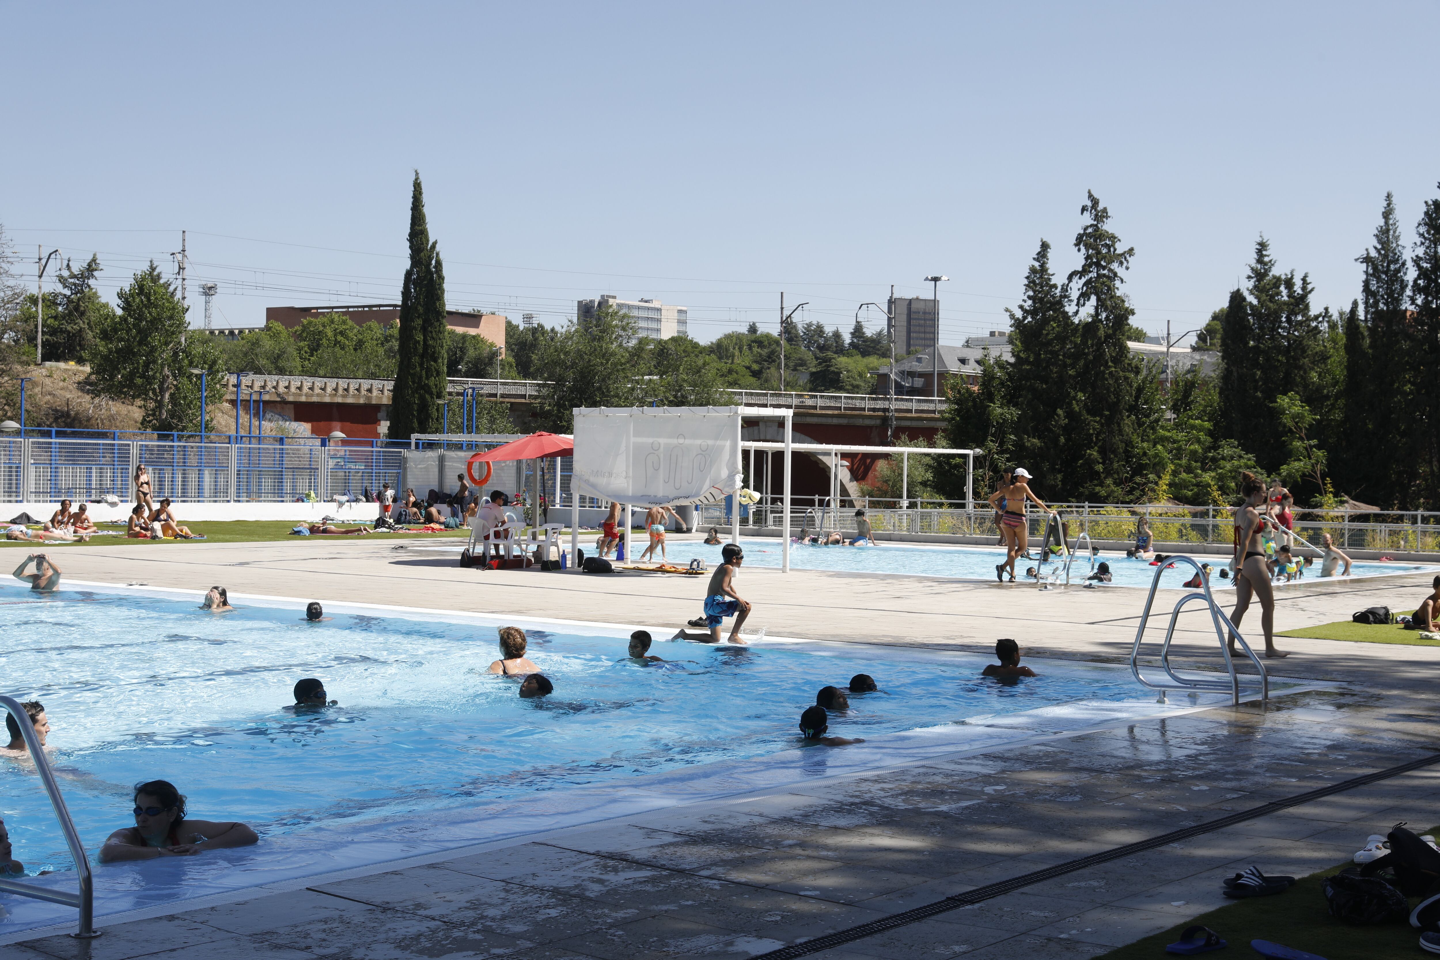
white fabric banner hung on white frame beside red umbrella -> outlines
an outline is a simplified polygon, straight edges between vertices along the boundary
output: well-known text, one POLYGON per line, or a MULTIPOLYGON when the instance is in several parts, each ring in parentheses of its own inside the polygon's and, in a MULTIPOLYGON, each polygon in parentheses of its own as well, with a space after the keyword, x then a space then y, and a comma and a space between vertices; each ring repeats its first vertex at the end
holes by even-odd
POLYGON ((740 407, 579 407, 570 484, 644 507, 721 499, 742 485, 740 407))

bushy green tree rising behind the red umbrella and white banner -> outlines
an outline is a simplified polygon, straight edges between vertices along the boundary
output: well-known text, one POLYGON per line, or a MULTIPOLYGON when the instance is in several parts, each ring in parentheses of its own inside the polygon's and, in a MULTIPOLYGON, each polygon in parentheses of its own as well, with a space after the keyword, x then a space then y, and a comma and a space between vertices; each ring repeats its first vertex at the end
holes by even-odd
POLYGON ((572 322, 541 343, 539 379, 549 383, 537 403, 544 429, 569 433, 575 407, 631 407, 641 400, 629 343, 635 321, 612 305, 599 307, 583 324, 572 322))

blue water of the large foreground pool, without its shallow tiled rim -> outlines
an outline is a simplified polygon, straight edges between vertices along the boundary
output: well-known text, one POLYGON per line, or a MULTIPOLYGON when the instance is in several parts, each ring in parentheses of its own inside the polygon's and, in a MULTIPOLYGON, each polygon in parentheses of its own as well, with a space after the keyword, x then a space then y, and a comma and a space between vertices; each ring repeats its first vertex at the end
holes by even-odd
MULTIPOLYGON (((655 643, 639 666, 616 636, 530 630, 530 658, 554 681, 521 701, 490 675, 492 625, 246 606, 210 615, 192 599, 0 593, 6 691, 40 699, 82 836, 124 826, 128 784, 163 777, 200 818, 266 833, 583 789, 795 744, 801 711, 857 672, 884 692, 857 697, 832 731, 874 737, 979 714, 1138 695, 1115 671, 999 685, 973 656, 903 651, 655 643), (318 676, 340 705, 285 710, 318 676)), ((68 858, 33 777, 0 761, 0 805, 16 856, 68 858)))

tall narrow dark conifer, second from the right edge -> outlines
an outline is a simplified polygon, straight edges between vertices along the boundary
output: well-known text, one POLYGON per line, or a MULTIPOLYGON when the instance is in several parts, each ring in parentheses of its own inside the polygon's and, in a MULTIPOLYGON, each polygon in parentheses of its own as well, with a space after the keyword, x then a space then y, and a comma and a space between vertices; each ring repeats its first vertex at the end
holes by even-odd
MULTIPOLYGON (((1395 197, 1385 194, 1380 226, 1375 227, 1375 245, 1356 258, 1364 266, 1361 284, 1361 309, 1365 332, 1369 340, 1369 370, 1362 393, 1367 432, 1364 449, 1401 450, 1405 448, 1405 419, 1410 410, 1411 384, 1401 374, 1407 368, 1410 347, 1405 317, 1408 263, 1405 245, 1400 237, 1400 220, 1395 216, 1395 197)), ((1362 482, 1372 491, 1381 507, 1404 505, 1404 479, 1382 458, 1365 456, 1358 446, 1351 448, 1352 466, 1362 471, 1362 482)))

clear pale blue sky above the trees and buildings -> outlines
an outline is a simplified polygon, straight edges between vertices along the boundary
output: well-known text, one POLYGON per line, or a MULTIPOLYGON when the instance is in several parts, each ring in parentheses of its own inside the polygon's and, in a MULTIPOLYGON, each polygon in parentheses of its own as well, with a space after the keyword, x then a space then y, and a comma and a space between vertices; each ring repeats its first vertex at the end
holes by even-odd
MULTIPOLYGON (((1356 296, 1387 190, 1437 196, 1440 4, 6 4, 0 223, 101 253, 190 230, 216 322, 399 298, 410 171, 455 308, 613 292, 711 340, 778 298, 940 288, 1004 328, 1086 190, 1136 248, 1139 322, 1224 304, 1263 232, 1356 296), (245 239, 238 239, 245 237, 245 239), (328 248, 328 249, 321 249, 328 248)), ((878 317, 871 314, 871 320, 878 317)))

